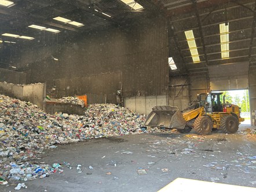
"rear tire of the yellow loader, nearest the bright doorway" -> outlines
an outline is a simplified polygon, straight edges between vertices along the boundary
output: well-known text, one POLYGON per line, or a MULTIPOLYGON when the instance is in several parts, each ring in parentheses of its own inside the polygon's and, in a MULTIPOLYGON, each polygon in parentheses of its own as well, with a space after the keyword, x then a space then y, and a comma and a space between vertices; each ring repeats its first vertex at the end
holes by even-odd
POLYGON ((228 115, 221 118, 221 129, 226 134, 234 134, 238 130, 239 121, 236 117, 228 115))

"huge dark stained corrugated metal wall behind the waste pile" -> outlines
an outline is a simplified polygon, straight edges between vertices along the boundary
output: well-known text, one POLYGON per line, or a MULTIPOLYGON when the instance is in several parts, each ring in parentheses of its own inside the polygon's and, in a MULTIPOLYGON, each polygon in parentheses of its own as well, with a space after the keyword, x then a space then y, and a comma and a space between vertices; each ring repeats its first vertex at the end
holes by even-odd
POLYGON ((13 60, 19 66, 29 66, 30 83, 46 82, 49 88, 58 79, 56 83, 63 83, 56 84, 60 86, 56 88, 72 87, 68 94, 85 94, 88 90, 115 94, 114 89, 122 84, 124 97, 164 95, 169 83, 167 47, 166 20, 144 15, 130 20, 126 27, 83 34, 73 42, 22 50, 13 60), (106 77, 106 73, 122 73, 122 79, 106 77))

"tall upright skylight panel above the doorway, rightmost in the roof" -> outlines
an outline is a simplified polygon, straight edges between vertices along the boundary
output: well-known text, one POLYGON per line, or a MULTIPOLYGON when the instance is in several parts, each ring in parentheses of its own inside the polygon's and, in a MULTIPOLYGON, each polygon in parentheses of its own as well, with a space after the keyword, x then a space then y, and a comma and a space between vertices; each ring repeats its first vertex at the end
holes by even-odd
POLYGON ((229 24, 220 24, 221 58, 229 58, 229 24))

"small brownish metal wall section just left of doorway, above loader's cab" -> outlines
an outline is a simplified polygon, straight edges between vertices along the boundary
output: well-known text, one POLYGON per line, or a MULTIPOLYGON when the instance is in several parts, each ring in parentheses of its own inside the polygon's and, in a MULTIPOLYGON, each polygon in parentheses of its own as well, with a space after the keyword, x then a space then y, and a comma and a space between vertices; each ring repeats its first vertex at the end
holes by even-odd
POLYGON ((209 90, 209 78, 207 74, 200 76, 189 76, 190 86, 190 94, 191 101, 197 98, 197 95, 200 93, 208 93, 209 90))

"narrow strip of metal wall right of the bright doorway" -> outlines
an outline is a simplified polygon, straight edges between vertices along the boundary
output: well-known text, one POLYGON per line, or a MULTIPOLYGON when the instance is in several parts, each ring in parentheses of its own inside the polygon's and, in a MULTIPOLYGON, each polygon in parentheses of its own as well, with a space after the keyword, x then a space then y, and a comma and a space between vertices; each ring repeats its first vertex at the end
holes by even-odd
POLYGON ((256 125, 255 112, 256 112, 256 69, 249 70, 249 97, 250 97, 250 110, 251 110, 251 124, 256 125), (254 120, 253 120, 254 119, 254 120))

